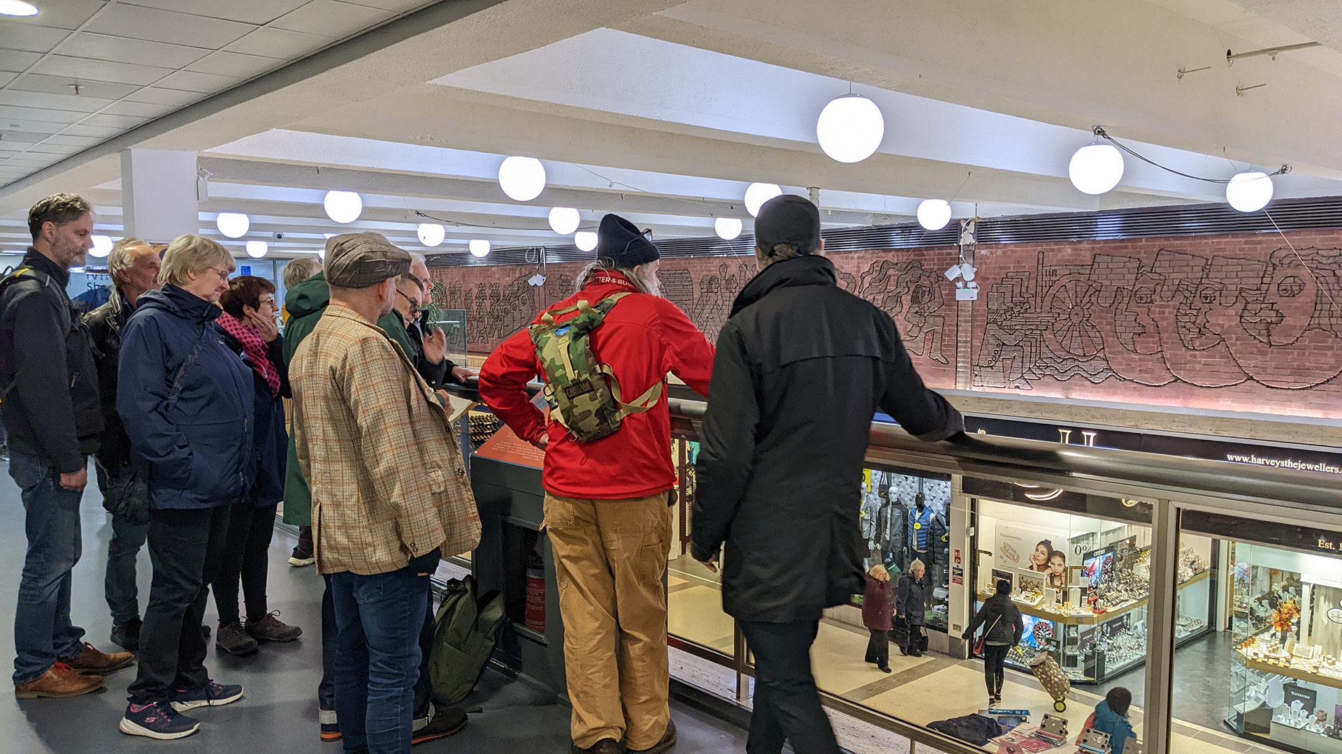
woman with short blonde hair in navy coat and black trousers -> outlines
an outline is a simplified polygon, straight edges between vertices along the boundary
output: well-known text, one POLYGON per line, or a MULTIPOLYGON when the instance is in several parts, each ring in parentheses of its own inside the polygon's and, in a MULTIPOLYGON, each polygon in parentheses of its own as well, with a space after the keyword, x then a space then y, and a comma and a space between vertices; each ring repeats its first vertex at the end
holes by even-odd
POLYGON ((121 730, 173 739, 200 730, 181 715, 243 695, 205 671, 200 625, 234 503, 251 488, 252 372, 211 323, 232 258, 193 235, 164 252, 162 291, 140 297, 121 341, 117 413, 148 471, 154 565, 140 629, 140 668, 121 730))

